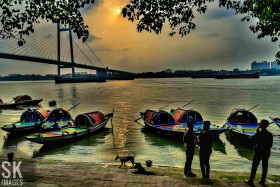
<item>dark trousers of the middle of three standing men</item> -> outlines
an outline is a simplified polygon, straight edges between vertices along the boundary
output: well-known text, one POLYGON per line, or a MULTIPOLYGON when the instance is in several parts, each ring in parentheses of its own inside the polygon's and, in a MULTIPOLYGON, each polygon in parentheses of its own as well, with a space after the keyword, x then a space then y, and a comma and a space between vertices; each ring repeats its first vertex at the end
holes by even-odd
POLYGON ((210 155, 212 150, 200 150, 199 151, 199 161, 200 161, 200 168, 203 178, 209 178, 210 173, 210 155))

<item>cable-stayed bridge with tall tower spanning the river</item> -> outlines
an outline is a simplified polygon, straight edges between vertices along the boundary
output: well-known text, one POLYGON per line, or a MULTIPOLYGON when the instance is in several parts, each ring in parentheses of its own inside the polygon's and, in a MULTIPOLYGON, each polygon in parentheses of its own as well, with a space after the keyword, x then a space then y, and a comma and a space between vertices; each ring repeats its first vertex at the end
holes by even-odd
POLYGON ((48 24, 35 29, 23 46, 15 39, 0 39, 0 58, 57 65, 61 68, 96 70, 98 76, 128 76, 133 73, 105 67, 90 46, 71 32, 71 27, 48 24), (65 31, 65 32, 64 32, 65 31))

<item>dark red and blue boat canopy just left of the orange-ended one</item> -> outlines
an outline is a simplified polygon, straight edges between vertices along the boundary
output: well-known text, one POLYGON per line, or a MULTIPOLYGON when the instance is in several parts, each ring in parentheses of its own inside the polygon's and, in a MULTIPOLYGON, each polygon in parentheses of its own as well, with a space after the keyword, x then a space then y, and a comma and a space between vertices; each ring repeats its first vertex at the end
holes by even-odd
POLYGON ((165 111, 146 110, 144 120, 152 125, 171 125, 175 124, 173 117, 165 111))

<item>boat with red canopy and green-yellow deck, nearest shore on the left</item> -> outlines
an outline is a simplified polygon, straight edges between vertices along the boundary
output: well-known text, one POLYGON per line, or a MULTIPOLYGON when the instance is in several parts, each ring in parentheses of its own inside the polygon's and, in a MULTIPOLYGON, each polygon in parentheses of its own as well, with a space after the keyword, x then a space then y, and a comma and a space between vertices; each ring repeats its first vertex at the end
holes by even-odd
POLYGON ((79 114, 75 118, 74 125, 71 127, 41 134, 38 133, 26 136, 25 138, 29 141, 45 145, 71 142, 102 130, 112 117, 113 113, 104 116, 99 111, 79 114))

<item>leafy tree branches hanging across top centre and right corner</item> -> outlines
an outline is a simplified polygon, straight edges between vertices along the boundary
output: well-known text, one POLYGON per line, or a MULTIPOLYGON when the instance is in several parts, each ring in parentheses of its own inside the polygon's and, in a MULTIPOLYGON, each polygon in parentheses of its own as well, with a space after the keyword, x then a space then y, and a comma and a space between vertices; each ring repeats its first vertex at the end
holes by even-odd
MULTIPOLYGON (((200 14, 207 10, 207 3, 214 0, 131 0, 122 10, 123 17, 138 21, 139 32, 161 33, 163 24, 169 23, 170 36, 178 33, 185 36, 195 29, 194 12, 200 14), (176 28, 179 27, 178 30, 176 28)), ((255 25, 250 25, 258 39, 271 37, 276 42, 280 36, 280 0, 219 0, 220 7, 234 9, 236 14, 244 14, 242 21, 257 18, 255 25)), ((280 51, 276 54, 280 63, 280 51)))

